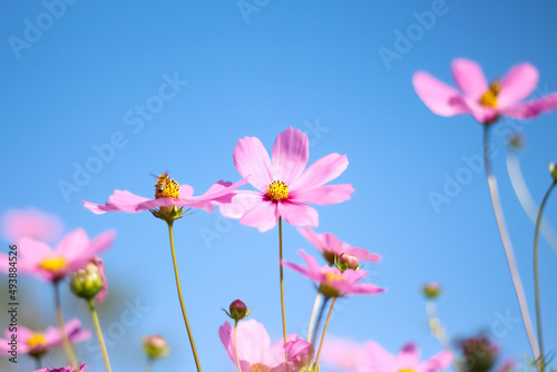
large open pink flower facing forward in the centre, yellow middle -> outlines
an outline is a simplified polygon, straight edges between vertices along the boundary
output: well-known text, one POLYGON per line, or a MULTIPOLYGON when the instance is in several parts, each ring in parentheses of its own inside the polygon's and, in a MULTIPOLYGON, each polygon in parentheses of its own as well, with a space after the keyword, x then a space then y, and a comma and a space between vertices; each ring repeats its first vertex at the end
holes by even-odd
POLYGON ((317 226, 317 212, 306 203, 341 203, 354 190, 349 184, 324 186, 346 169, 345 155, 330 154, 305 169, 309 148, 307 135, 292 127, 276 137, 272 159, 258 138, 240 139, 234 165, 257 192, 240 190, 231 204, 219 206, 221 213, 260 232, 273 228, 278 217, 292 225, 317 226))

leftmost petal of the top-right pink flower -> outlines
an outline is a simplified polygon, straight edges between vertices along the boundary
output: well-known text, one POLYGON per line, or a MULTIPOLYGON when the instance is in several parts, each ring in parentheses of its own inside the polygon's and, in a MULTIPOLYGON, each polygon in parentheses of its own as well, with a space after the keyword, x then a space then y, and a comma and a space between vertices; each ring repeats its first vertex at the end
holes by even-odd
POLYGON ((439 81, 428 72, 416 72, 412 82, 418 96, 434 114, 453 116, 469 112, 468 106, 457 89, 439 81))

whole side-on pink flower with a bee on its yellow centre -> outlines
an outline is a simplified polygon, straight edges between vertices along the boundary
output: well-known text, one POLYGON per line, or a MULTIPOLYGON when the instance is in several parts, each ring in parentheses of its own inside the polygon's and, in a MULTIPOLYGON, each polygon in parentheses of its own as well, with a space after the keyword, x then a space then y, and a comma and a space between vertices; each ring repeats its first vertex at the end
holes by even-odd
POLYGON ((211 186, 205 194, 193 196, 194 188, 192 186, 179 185, 174 178, 169 178, 167 174, 163 174, 158 178, 159 182, 155 184, 154 199, 117 189, 108 197, 105 205, 82 202, 84 206, 97 214, 117 211, 137 213, 149 209, 158 218, 177 219, 183 216, 183 207, 213 212, 215 204, 229 203, 235 195, 233 192, 247 182, 242 179, 232 184, 219 180, 211 186), (160 180, 160 178, 164 178, 164 180, 160 180))

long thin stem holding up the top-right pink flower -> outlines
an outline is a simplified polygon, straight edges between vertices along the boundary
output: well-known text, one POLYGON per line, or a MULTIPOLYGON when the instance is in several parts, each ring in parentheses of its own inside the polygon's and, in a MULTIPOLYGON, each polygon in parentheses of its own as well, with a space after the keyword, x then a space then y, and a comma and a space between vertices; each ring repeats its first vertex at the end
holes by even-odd
POLYGON ((526 303, 526 296, 524 293, 522 283, 520 282, 520 275, 518 274, 517 265, 515 262, 515 253, 512 252, 512 245, 510 243, 509 233, 507 232, 507 225, 505 223, 505 215, 502 213, 501 203, 499 200, 497 179, 491 169, 491 161, 489 158, 489 127, 490 125, 487 124, 483 126, 483 161, 486 166, 486 176, 489 185, 489 193, 491 195, 491 204, 494 206, 495 217, 497 219, 497 226, 499 228, 499 235, 501 236, 502 246, 505 247, 505 254, 507 255, 507 263, 509 265, 512 284, 515 285, 515 292, 517 294, 518 304, 520 306, 520 313, 522 315, 522 322, 526 329, 526 334, 528 336, 528 341, 530 343, 530 347, 534 353, 534 359, 538 360, 539 350, 536 343, 536 337, 534 335, 534 330, 531 326, 530 314, 528 312, 528 305, 526 303))

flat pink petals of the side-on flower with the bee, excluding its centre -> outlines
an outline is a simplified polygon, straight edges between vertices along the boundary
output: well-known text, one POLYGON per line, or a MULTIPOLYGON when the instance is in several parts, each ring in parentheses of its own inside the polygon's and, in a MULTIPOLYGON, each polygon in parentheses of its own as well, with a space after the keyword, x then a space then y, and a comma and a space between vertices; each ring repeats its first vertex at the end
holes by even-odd
POLYGON ((131 194, 127 190, 115 190, 113 195, 108 197, 108 202, 105 205, 95 204, 90 202, 82 202, 84 206, 94 213, 102 214, 106 212, 127 212, 137 213, 146 209, 155 209, 157 207, 189 207, 204 209, 207 212, 213 212, 215 204, 229 203, 232 197, 235 195, 233 192, 244 185, 247 180, 242 179, 235 184, 229 182, 219 180, 218 183, 211 186, 211 188, 203 195, 193 196, 194 188, 189 185, 179 186, 178 198, 169 197, 156 197, 150 199, 148 197, 141 197, 131 194))

